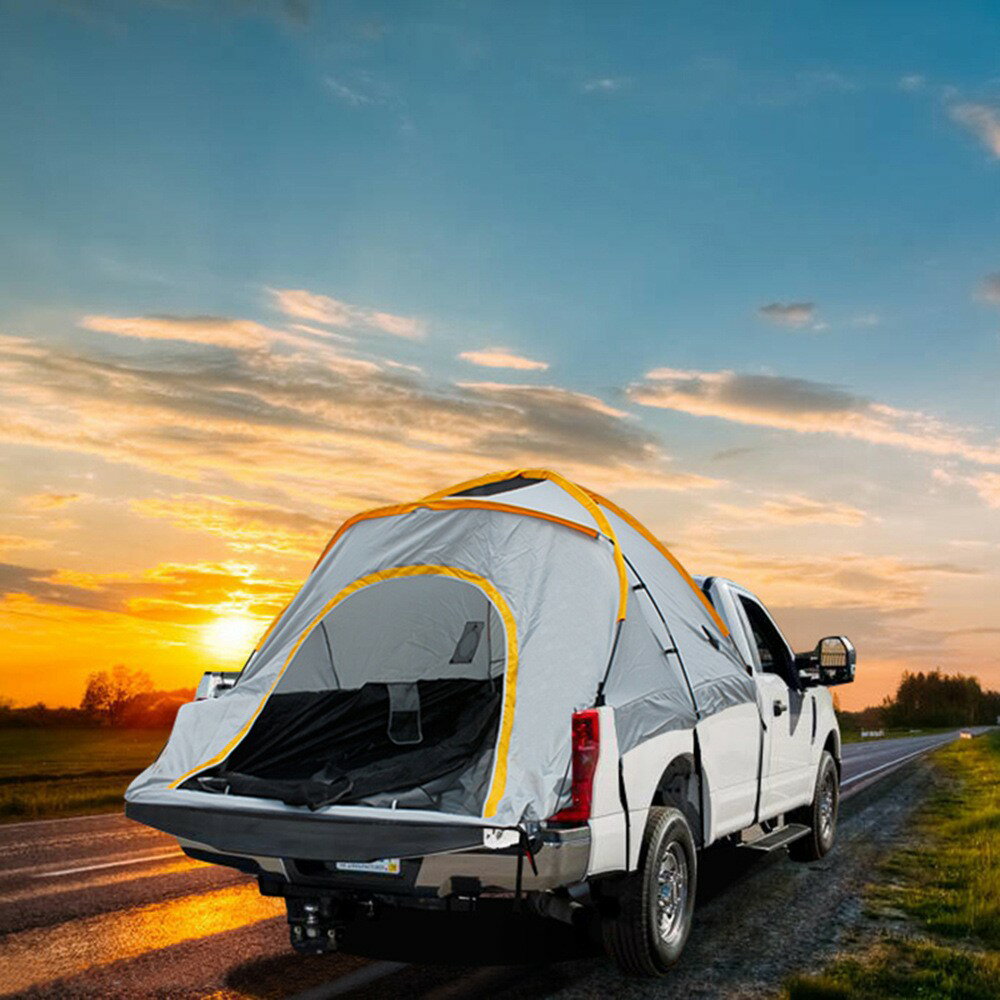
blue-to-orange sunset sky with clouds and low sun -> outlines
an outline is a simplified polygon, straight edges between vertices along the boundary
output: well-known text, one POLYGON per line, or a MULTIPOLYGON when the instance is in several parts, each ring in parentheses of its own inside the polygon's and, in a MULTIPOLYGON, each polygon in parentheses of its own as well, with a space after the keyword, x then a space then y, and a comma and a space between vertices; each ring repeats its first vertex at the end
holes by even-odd
POLYGON ((607 492, 1000 688, 1000 16, 0 7, 0 695, 238 668, 348 515, 607 492))

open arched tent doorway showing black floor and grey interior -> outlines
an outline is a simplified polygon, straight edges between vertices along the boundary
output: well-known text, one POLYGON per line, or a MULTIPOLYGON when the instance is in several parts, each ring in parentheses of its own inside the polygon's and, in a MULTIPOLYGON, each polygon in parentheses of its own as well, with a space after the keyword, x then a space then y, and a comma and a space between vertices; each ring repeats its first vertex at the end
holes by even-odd
POLYGON ((315 622, 247 735, 185 787, 481 813, 507 634, 473 583, 389 576, 315 622))

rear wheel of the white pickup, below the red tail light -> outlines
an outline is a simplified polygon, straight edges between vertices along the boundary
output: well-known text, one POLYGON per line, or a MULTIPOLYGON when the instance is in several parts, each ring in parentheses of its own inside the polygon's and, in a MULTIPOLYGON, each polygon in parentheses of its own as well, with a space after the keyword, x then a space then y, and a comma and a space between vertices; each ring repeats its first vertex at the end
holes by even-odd
POLYGON ((662 976, 687 941, 694 912, 698 856, 679 809, 654 806, 642 838, 639 870, 614 892, 617 913, 601 921, 604 947, 623 972, 662 976))

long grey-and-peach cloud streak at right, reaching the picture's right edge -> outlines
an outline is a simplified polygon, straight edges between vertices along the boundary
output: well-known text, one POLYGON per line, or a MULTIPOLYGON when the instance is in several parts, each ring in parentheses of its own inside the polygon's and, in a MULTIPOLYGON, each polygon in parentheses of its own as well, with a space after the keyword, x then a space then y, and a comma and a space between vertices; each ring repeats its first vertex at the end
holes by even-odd
POLYGON ((717 417, 757 427, 891 445, 931 455, 1000 465, 1000 441, 976 441, 967 428, 925 413, 901 410, 825 382, 732 371, 658 368, 629 387, 645 406, 717 417))

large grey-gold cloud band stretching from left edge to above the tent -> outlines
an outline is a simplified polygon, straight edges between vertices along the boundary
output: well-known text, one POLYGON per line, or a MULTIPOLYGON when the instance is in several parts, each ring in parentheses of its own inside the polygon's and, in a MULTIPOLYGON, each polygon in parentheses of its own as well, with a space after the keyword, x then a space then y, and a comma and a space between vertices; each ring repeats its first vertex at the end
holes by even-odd
POLYGON ((419 496, 508 464, 554 464, 599 488, 714 482, 674 471, 654 433, 597 397, 442 386, 298 336, 267 350, 213 337, 142 357, 117 354, 107 335, 73 348, 0 337, 0 440, 98 455, 214 494, 243 484, 317 511, 419 496))

